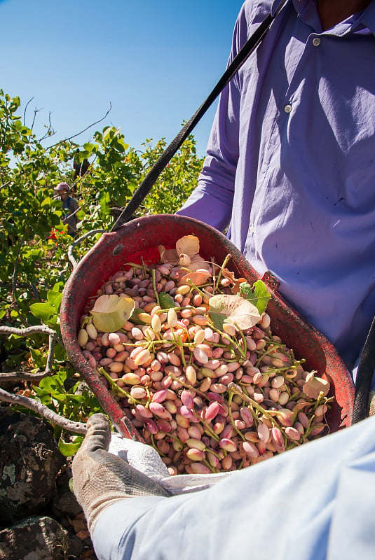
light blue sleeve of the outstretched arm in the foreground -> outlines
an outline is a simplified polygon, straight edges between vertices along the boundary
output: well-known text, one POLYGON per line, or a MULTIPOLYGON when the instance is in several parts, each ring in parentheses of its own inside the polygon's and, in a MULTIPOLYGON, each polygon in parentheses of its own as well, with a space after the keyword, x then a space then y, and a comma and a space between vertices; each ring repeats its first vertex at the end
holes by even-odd
POLYGON ((100 560, 373 560, 375 416, 209 489, 121 500, 93 545, 100 560))

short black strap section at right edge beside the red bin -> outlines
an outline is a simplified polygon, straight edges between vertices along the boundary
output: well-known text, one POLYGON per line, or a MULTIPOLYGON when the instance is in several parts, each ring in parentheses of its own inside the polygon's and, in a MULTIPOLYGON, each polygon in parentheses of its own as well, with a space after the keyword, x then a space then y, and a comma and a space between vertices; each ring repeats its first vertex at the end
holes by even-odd
POLYGON ((369 393, 375 371, 375 317, 364 343, 355 379, 352 423, 360 422, 369 414, 369 393))

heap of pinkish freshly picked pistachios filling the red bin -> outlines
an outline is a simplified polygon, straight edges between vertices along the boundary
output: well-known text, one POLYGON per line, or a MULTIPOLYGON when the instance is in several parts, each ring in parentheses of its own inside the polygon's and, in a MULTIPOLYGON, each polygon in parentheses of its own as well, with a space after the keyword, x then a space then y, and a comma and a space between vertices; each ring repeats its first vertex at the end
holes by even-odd
POLYGON ((211 263, 196 286, 181 266, 128 263, 89 302, 78 333, 170 474, 237 470, 325 433, 329 383, 272 335, 266 312, 247 330, 215 326, 210 297, 234 280, 211 263), (135 304, 116 332, 97 330, 90 314, 104 294, 135 304))

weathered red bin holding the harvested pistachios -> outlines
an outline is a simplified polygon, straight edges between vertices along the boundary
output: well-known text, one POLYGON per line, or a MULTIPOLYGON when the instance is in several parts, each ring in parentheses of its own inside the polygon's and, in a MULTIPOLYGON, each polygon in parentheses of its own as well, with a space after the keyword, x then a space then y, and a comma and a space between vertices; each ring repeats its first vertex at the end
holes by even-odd
MULTIPOLYGON (((141 255, 153 258, 156 262, 159 257, 158 245, 175 248, 177 239, 183 235, 196 235, 199 238, 200 255, 203 258, 210 260, 213 257, 221 264, 230 253, 233 258, 228 267, 237 277, 244 277, 250 283, 259 279, 259 274, 225 235, 192 218, 157 214, 137 218, 116 232, 102 235, 74 268, 62 296, 61 331, 71 363, 82 374, 118 431, 125 437, 139 441, 142 441, 142 437, 83 356, 77 342, 79 321, 89 297, 95 295, 97 289, 122 265, 126 262, 141 262, 141 255)), ((280 336, 282 342, 294 349, 296 358, 306 358, 306 370, 317 370, 320 377, 325 377, 331 384, 331 394, 335 400, 327 414, 329 430, 334 432, 350 426, 354 386, 336 349, 275 291, 273 276, 266 274, 262 279, 271 293, 267 312, 271 316, 273 334, 280 336)))

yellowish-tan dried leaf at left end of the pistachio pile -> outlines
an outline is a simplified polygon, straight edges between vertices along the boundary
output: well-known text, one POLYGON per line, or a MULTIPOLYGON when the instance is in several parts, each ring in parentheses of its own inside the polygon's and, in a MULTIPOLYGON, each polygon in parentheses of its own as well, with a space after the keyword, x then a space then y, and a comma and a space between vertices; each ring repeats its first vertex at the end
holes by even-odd
POLYGON ((101 295, 95 301, 90 314, 97 330, 102 332, 115 332, 125 325, 135 308, 132 297, 116 294, 101 295))

